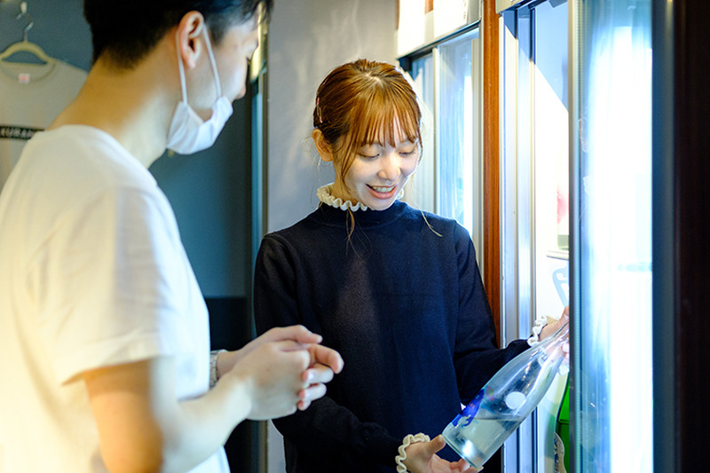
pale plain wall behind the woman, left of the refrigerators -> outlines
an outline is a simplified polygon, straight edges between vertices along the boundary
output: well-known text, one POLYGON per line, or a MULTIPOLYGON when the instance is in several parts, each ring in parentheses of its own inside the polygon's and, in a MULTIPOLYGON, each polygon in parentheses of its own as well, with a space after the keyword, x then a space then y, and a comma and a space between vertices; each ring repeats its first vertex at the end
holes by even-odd
MULTIPOLYGON (((311 146, 315 93, 328 72, 350 60, 396 60, 394 0, 275 0, 268 39, 266 202, 269 231, 316 208, 333 181, 311 146)), ((283 473, 282 438, 270 423, 268 472, 283 473)))

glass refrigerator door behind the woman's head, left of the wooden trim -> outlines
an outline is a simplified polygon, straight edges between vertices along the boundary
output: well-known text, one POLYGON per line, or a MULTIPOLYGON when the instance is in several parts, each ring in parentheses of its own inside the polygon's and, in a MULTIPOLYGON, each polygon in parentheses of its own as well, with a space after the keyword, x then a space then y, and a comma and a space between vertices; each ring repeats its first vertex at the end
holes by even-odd
MULTIPOLYGON (((483 176, 481 168, 480 45, 478 29, 439 44, 412 63, 414 87, 424 109, 422 162, 413 197, 421 209, 454 218, 471 235, 481 264, 483 176), (435 135, 428 117, 435 111, 435 135), (431 181, 430 181, 431 179, 431 181)), ((408 191, 407 191, 408 192, 408 191)))

